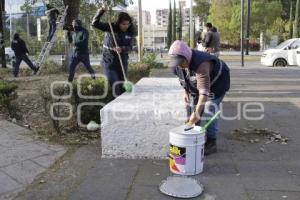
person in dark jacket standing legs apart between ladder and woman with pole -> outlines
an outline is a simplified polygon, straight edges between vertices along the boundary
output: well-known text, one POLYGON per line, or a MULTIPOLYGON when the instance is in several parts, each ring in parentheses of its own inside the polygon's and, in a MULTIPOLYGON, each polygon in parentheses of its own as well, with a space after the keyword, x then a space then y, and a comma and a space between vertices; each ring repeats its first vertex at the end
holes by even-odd
POLYGON ((89 32, 82 27, 80 20, 73 20, 73 30, 68 31, 68 39, 74 45, 74 53, 69 67, 69 82, 72 82, 75 75, 76 66, 82 62, 92 78, 95 79, 95 71, 90 63, 89 56, 89 32))

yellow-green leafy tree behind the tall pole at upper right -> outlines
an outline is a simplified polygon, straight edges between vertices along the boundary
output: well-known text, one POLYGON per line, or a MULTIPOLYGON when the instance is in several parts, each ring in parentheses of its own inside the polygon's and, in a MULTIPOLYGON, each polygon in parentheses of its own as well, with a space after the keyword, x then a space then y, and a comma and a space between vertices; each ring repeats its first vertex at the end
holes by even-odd
MULTIPOLYGON (((222 40, 231 44, 240 41, 240 5, 240 0, 212 0, 210 8, 208 20, 219 29, 222 40)), ((260 32, 270 29, 281 18, 281 11, 282 4, 278 0, 252 0, 250 38, 259 38, 260 32)))

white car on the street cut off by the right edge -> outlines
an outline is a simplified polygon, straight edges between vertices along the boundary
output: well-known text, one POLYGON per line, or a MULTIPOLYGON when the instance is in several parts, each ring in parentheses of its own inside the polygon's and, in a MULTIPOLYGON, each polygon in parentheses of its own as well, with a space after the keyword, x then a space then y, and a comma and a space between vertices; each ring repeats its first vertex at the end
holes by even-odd
POLYGON ((268 49, 261 56, 265 66, 300 65, 300 38, 286 40, 273 49, 268 49))

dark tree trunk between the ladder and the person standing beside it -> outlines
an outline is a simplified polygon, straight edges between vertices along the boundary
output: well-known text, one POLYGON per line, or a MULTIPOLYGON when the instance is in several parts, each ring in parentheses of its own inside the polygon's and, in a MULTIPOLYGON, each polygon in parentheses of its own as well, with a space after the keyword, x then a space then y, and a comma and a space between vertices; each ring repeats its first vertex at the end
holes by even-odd
MULTIPOLYGON (((80 0, 64 0, 64 5, 69 6, 66 21, 64 25, 65 30, 72 29, 72 21, 78 18, 79 8, 80 8, 80 0)), ((67 70, 70 66, 71 56, 72 56, 72 48, 70 47, 67 34, 65 34, 65 63, 64 67, 67 70)))

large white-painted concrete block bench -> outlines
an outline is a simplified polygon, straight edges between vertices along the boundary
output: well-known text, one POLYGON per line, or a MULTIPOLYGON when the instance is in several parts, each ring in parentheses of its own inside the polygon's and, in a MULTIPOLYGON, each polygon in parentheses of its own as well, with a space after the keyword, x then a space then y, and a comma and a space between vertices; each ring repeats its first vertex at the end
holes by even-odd
POLYGON ((166 159, 169 131, 186 120, 176 78, 143 78, 101 109, 102 157, 166 159))

